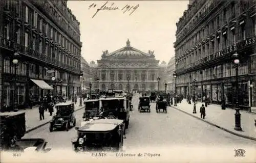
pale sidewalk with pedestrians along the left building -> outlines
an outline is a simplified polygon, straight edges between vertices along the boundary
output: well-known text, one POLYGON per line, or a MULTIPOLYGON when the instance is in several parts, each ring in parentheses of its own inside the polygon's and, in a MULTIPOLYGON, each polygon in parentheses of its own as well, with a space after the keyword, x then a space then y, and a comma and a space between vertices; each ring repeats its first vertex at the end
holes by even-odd
MULTIPOLYGON (((79 100, 77 100, 78 102, 75 104, 75 109, 74 111, 78 111, 81 108, 84 108, 84 104, 82 103, 82 106, 79 106, 79 100)), ((26 110, 21 110, 23 112, 25 112, 25 117, 26 117, 26 133, 35 130, 36 128, 39 128, 43 125, 48 124, 51 120, 52 117, 54 115, 54 113, 56 113, 56 110, 54 110, 54 113, 52 116, 50 116, 50 113, 47 111, 45 112, 45 119, 44 120, 40 120, 39 119, 39 111, 38 111, 38 107, 39 106, 34 106, 32 107, 32 109, 26 109, 26 110)))

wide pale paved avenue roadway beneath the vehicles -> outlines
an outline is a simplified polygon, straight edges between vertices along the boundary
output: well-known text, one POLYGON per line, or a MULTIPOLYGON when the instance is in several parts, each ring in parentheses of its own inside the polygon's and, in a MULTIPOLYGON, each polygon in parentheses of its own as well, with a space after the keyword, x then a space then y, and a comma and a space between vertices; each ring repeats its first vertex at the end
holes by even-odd
MULTIPOLYGON (((167 114, 156 113, 155 103, 151 103, 151 113, 138 112, 138 95, 133 98, 134 111, 130 126, 126 131, 124 144, 127 149, 135 147, 159 146, 211 146, 252 147, 250 141, 232 135, 207 123, 190 117, 172 107, 167 114)), ((75 112, 77 126, 80 126, 83 110, 75 112)), ((49 131, 49 124, 27 133, 24 138, 44 138, 48 148, 72 149, 71 139, 76 137, 75 128, 69 131, 49 131)))

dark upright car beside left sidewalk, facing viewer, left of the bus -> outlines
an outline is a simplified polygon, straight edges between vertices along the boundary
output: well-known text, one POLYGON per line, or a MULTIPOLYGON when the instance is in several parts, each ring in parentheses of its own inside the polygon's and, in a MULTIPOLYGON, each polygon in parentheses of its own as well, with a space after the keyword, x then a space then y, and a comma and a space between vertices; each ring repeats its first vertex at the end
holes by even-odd
POLYGON ((76 125, 76 118, 74 116, 75 105, 73 102, 63 102, 54 105, 56 107, 56 115, 53 115, 50 122, 50 132, 56 129, 66 129, 67 131, 76 125))

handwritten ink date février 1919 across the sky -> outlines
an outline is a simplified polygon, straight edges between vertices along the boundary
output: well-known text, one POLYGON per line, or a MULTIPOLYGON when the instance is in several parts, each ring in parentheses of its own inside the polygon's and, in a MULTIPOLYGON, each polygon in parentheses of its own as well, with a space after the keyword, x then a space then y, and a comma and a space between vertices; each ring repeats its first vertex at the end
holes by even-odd
MULTIPOLYGON (((98 8, 98 9, 96 10, 96 12, 95 12, 95 14, 93 15, 92 18, 94 18, 94 16, 95 16, 99 11, 101 11, 101 10, 106 10, 106 11, 120 10, 123 14, 130 12, 129 15, 132 15, 132 13, 133 13, 136 9, 138 9, 139 6, 140 6, 139 4, 136 5, 136 6, 125 5, 122 9, 121 9, 121 8, 119 9, 117 6, 115 6, 114 3, 112 3, 112 4, 110 5, 109 2, 107 1, 107 2, 104 3, 104 5, 102 5, 100 8, 98 8)), ((97 7, 97 5, 93 3, 92 5, 89 6, 89 10, 90 10, 91 8, 95 8, 95 7, 97 7)))

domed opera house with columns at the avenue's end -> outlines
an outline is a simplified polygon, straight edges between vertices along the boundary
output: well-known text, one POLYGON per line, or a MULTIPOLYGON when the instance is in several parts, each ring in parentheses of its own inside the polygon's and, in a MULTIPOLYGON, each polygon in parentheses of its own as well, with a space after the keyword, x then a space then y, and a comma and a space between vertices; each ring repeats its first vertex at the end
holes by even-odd
POLYGON ((101 60, 97 60, 97 63, 97 67, 92 70, 94 89, 98 88, 96 78, 99 77, 100 90, 158 90, 157 78, 160 77, 159 90, 164 90, 161 84, 163 77, 160 76, 163 68, 155 59, 154 51, 140 51, 131 46, 129 39, 125 47, 110 53, 108 50, 103 51, 101 60))

